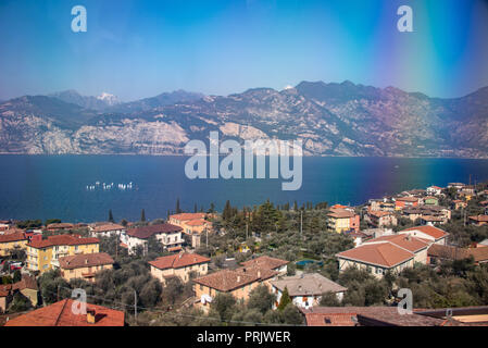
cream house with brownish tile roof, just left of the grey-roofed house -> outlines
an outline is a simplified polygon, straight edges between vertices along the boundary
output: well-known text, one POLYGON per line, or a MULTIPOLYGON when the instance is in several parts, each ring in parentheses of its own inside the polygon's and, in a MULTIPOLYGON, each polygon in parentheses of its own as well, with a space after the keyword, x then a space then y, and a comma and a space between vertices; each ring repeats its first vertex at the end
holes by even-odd
POLYGON ((250 293, 260 286, 266 285, 276 278, 277 272, 258 269, 240 268, 237 270, 223 270, 193 279, 197 308, 208 311, 213 298, 221 294, 232 294, 236 299, 247 301, 250 293))

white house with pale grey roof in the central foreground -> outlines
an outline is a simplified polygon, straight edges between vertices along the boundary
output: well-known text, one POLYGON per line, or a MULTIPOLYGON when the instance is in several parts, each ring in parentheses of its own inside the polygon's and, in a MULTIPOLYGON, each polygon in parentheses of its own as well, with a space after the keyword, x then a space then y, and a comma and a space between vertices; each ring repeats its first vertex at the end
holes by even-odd
POLYGON ((278 281, 271 282, 272 293, 276 294, 276 309, 281 300, 285 288, 295 306, 301 308, 311 308, 318 306, 324 293, 333 293, 338 300, 342 300, 343 294, 348 290, 346 287, 334 283, 318 273, 308 273, 296 276, 286 276, 278 281))

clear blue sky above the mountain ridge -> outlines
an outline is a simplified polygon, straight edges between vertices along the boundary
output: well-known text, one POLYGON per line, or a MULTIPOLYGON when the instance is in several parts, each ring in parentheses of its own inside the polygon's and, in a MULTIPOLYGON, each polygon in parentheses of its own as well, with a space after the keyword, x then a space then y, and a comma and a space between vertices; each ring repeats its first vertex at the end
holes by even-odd
POLYGON ((3 100, 346 79, 452 98, 488 86, 488 0, 0 0, 0 42, 3 100), (74 5, 86 33, 71 28, 74 5), (400 5, 412 33, 397 29, 400 5))

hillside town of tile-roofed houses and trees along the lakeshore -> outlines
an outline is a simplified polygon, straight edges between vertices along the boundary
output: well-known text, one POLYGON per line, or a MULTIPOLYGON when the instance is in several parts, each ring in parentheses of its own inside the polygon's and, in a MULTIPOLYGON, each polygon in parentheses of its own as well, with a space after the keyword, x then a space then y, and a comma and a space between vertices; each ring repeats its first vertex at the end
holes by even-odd
POLYGON ((488 183, 108 217, 0 221, 0 325, 488 324, 488 183))

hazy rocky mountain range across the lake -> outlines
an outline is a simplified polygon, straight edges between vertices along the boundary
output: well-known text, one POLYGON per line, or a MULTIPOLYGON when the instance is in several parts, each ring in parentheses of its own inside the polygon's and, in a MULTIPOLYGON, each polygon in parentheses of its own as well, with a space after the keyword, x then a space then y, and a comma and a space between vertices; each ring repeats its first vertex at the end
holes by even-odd
POLYGON ((301 139, 305 156, 488 158, 488 87, 429 98, 302 82, 229 96, 177 90, 132 102, 74 90, 0 103, 0 152, 182 154, 190 139, 301 139))

